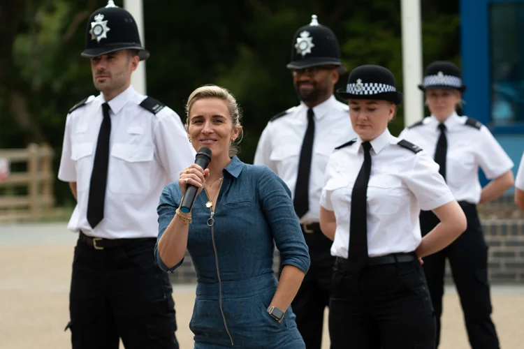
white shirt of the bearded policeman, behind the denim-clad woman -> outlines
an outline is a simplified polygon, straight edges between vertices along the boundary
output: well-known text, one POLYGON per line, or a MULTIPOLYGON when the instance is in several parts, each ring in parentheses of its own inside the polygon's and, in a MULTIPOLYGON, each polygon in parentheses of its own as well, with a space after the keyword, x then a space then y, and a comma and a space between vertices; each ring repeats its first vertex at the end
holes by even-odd
MULTIPOLYGON (((255 165, 267 165, 282 178, 293 198, 308 109, 301 102, 274 117, 262 132, 254 158, 255 165)), ((351 128, 347 104, 340 103, 333 95, 313 107, 313 112, 315 135, 309 186, 310 210, 300 219, 301 223, 319 221, 319 200, 328 158, 337 145, 356 137, 351 128)))

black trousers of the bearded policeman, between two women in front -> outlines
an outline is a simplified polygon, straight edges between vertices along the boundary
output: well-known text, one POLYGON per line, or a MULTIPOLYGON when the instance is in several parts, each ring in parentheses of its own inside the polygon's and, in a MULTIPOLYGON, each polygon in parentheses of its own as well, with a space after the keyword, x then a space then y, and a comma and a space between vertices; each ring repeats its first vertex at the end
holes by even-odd
POLYGON ((333 242, 322 234, 320 228, 313 232, 304 232, 304 237, 310 249, 311 264, 291 302, 291 309, 296 315, 296 325, 305 347, 320 349, 324 311, 329 306, 329 290, 335 264, 335 258, 330 253, 333 242))

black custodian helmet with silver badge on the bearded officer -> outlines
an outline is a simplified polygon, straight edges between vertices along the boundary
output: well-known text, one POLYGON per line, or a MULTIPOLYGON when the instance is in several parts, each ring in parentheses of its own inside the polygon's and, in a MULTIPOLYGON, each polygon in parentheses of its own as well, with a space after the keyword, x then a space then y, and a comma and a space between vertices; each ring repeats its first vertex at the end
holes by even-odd
POLYGON ((340 47, 333 31, 319 24, 316 15, 312 15, 309 25, 300 27, 291 43, 291 61, 288 69, 303 69, 312 66, 339 66, 340 47))

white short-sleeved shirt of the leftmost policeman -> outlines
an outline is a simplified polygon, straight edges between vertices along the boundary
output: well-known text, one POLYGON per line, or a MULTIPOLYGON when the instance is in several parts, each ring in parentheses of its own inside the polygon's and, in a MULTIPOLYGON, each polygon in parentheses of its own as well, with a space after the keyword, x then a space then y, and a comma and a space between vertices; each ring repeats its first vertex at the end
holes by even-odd
POLYGON ((145 98, 130 86, 108 102, 108 183, 103 220, 94 230, 86 215, 103 95, 90 96, 68 114, 58 172, 61 181, 76 182, 78 200, 68 229, 107 239, 157 237, 161 191, 194 163, 195 151, 180 117, 168 107, 157 114, 146 110, 140 106, 145 98))

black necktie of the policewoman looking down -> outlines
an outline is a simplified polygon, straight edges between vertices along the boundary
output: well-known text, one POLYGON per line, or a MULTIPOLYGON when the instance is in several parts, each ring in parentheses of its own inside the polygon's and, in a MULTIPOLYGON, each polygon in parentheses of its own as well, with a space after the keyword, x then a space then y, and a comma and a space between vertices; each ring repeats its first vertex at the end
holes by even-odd
POLYGON ((367 182, 371 174, 371 144, 363 142, 364 162, 356 177, 351 192, 351 217, 349 221, 348 260, 354 269, 360 270, 367 265, 367 182))

